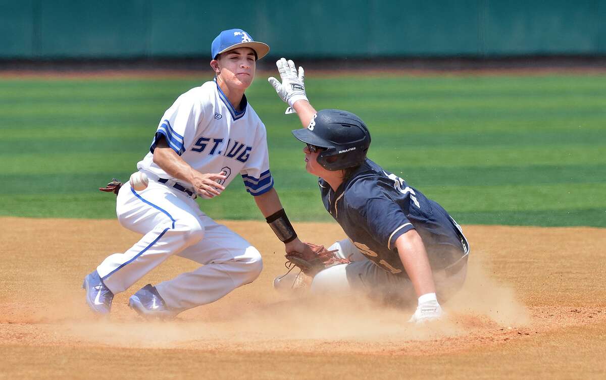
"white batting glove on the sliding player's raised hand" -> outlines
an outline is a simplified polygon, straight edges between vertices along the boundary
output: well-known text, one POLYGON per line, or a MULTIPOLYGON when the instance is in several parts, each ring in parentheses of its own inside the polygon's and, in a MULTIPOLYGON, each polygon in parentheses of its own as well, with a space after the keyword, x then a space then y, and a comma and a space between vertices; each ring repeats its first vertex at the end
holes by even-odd
POLYGON ((297 73, 295 62, 291 59, 286 61, 284 58, 276 61, 276 67, 278 67, 278 73, 280 73, 282 83, 275 77, 268 77, 267 81, 275 88, 280 99, 284 100, 285 103, 288 103, 286 113, 294 113, 295 110, 292 108, 293 104, 295 104, 297 100, 307 100, 304 84, 305 71, 302 67, 299 67, 299 73, 297 73))

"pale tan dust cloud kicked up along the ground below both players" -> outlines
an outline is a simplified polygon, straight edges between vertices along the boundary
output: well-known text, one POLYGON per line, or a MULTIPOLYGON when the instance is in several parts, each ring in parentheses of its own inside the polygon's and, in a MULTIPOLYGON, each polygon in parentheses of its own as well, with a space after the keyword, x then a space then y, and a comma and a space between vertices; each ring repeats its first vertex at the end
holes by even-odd
POLYGON ((255 300, 255 293, 251 297, 249 306, 218 304, 206 315, 201 307, 171 321, 145 321, 123 305, 115 306, 108 318, 93 319, 81 293, 44 312, 27 314, 29 323, 51 323, 56 335, 81 344, 282 352, 405 350, 481 330, 521 327, 530 320, 513 289, 492 280, 477 262, 470 265, 463 289, 443 305, 446 318, 422 325, 407 322, 413 308, 385 307, 359 295, 280 302, 268 302, 267 296, 255 300))

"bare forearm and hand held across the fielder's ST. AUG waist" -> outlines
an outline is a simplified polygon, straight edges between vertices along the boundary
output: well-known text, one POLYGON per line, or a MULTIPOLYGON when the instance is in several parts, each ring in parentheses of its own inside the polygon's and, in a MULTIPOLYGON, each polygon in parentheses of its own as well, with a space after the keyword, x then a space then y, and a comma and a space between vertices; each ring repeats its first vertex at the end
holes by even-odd
POLYGON ((221 173, 201 173, 185 162, 162 137, 156 143, 153 152, 153 162, 173 178, 191 183, 194 190, 207 197, 221 194, 225 188, 216 180, 225 179, 221 173))

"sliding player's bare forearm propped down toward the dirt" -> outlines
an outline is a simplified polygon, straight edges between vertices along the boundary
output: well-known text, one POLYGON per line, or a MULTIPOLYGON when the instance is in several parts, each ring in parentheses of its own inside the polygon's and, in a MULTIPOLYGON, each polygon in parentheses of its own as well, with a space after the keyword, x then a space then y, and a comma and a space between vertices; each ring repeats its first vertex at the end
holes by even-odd
POLYGON ((436 286, 433 282, 427 251, 425 251, 425 244, 418 232, 411 229, 401 235, 396 240, 396 247, 404 269, 415 287, 416 295, 435 293, 436 286))

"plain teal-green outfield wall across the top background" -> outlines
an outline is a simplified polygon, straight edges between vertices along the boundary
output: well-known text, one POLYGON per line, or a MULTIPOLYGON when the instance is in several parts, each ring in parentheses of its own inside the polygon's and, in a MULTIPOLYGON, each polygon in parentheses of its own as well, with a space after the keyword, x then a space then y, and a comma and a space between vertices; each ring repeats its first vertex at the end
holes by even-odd
POLYGON ((222 3, 0 0, 0 59, 206 56, 233 27, 272 56, 606 55, 606 0, 222 3))

